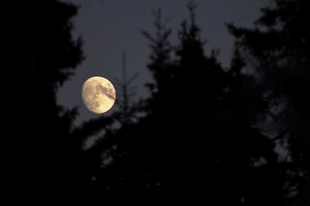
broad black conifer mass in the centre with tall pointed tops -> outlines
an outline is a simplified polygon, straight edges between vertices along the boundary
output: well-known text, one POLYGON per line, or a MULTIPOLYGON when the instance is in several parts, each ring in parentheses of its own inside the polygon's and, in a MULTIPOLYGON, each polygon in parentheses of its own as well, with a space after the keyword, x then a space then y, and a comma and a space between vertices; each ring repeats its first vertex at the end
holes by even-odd
POLYGON ((285 176, 275 143, 256 126, 268 111, 264 90, 241 73, 245 62, 238 44, 227 72, 216 52, 205 56, 195 7, 188 4, 190 23, 182 22, 175 47, 160 10, 154 13, 155 36, 142 31, 151 41, 148 68, 155 80, 146 84, 152 92, 144 102, 146 115, 96 142, 105 164, 91 187, 109 195, 284 204, 285 176))

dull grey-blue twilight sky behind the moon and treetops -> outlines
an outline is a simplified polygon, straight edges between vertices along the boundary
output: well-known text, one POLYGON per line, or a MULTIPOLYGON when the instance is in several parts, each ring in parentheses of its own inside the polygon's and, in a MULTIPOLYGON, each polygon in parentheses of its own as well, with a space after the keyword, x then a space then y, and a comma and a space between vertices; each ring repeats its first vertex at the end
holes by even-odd
MULTIPOLYGON (((148 96, 144 83, 151 82, 152 76, 147 69, 150 62, 149 41, 140 33, 141 29, 155 31, 152 10, 162 8, 162 16, 170 20, 167 27, 172 28, 170 42, 178 43, 177 32, 184 18, 189 18, 186 4, 188 0, 62 0, 80 5, 78 15, 73 19, 73 37, 82 36, 83 51, 86 59, 78 66, 71 81, 57 93, 57 101, 67 108, 79 106, 80 116, 75 124, 109 115, 116 109, 103 114, 89 111, 82 101, 83 83, 90 77, 101 76, 111 82, 115 77, 122 79, 122 51, 126 51, 127 77, 139 72, 131 84, 137 86, 136 99, 148 96)), ((259 8, 270 5, 270 0, 196 0, 196 21, 201 28, 201 39, 207 40, 205 54, 211 49, 220 48, 218 60, 228 67, 232 57, 234 38, 228 33, 224 22, 238 26, 251 27, 260 16, 259 8)), ((116 91, 118 92, 118 91, 116 91)))

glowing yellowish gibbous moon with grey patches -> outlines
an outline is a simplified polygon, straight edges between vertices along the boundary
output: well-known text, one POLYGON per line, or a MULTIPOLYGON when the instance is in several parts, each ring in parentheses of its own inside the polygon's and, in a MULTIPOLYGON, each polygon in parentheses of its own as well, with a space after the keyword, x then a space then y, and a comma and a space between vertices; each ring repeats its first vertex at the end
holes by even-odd
POLYGON ((82 99, 94 113, 100 114, 111 109, 115 102, 116 92, 113 84, 103 77, 91 77, 82 87, 82 99))

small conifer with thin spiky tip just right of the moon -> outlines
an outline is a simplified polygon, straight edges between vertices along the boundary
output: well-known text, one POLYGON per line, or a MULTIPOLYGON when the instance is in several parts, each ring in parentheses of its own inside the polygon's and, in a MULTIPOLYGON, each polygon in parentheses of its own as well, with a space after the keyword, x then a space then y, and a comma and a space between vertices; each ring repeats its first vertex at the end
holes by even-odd
POLYGON ((116 90, 120 91, 117 92, 119 97, 117 97, 115 102, 118 110, 110 116, 104 115, 97 119, 86 121, 73 131, 76 137, 82 135, 83 139, 99 135, 95 143, 83 152, 82 158, 84 163, 82 165, 85 168, 83 169, 84 174, 81 175, 83 180, 80 189, 85 194, 105 194, 102 192, 110 190, 111 185, 109 182, 114 180, 113 177, 120 178, 117 176, 116 170, 111 169, 110 166, 112 160, 117 161, 119 157, 124 155, 123 150, 119 149, 118 146, 122 141, 122 136, 117 135, 117 133, 130 127, 138 119, 138 113, 143 111, 142 100, 132 101, 131 97, 135 94, 135 87, 129 87, 138 73, 129 79, 126 78, 125 58, 124 52, 123 81, 116 78, 116 82, 114 82, 116 90), (103 134, 100 134, 102 132, 103 134), (107 171, 106 168, 108 166, 110 169, 107 171), (110 171, 111 173, 109 173, 110 171))

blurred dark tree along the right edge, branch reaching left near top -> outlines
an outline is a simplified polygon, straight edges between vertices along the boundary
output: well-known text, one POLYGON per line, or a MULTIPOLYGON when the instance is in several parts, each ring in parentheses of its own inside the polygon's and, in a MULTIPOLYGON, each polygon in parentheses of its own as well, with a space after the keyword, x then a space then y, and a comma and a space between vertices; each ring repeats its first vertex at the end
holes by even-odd
POLYGON ((228 24, 244 53, 263 78, 263 87, 272 107, 282 103, 279 112, 268 112, 280 125, 274 139, 285 142, 287 205, 309 204, 309 32, 305 28, 309 3, 276 0, 273 8, 261 9, 255 29, 228 24), (284 106, 283 106, 284 105, 284 106))

